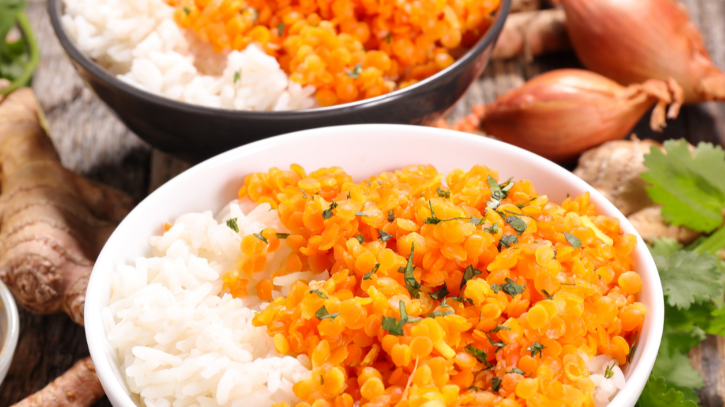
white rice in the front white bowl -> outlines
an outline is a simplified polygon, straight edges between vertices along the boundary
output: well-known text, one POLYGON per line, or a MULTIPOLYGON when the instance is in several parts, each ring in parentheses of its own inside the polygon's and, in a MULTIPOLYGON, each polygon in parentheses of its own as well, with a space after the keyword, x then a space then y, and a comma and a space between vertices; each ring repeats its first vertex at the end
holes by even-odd
MULTIPOLYGON (((247 298, 222 293, 220 276, 233 269, 244 235, 287 230, 269 204, 233 201, 215 219, 185 214, 149 238, 152 256, 118 264, 112 274, 104 328, 119 366, 141 406, 269 407, 297 401, 292 385, 310 377, 305 355, 280 356, 265 327, 253 327, 256 282, 247 298), (245 213, 247 214, 245 216, 245 213), (237 218, 239 233, 226 225, 237 218)), ((291 253, 282 245, 254 277, 270 278, 291 253)), ((295 273, 294 280, 326 280, 327 272, 295 273)), ((289 284, 282 277, 275 283, 289 284)), ((275 296, 285 289, 276 288, 275 296)))

